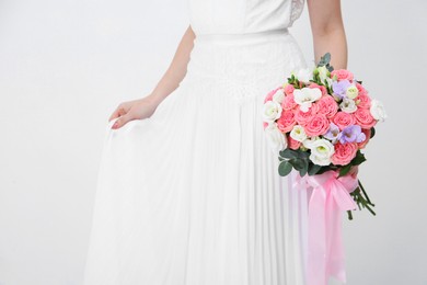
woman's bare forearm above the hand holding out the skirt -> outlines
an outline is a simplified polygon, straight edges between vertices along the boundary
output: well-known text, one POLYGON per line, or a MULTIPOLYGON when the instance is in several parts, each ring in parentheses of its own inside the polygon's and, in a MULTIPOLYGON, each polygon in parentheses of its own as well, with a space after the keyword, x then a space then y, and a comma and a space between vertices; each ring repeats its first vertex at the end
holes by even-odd
POLYGON ((164 98, 171 94, 184 79, 187 72, 187 65, 189 61, 189 54, 193 49, 194 38, 194 32, 191 26, 188 26, 180 42, 171 65, 149 95, 155 105, 160 104, 164 98))

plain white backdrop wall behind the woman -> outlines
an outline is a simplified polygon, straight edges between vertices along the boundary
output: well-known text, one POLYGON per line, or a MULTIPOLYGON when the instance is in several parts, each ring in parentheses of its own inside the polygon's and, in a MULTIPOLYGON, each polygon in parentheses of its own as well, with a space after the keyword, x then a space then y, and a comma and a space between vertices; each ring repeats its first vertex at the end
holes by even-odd
MULTIPOLYGON (((107 117, 155 86, 185 1, 0 0, 0 285, 81 283, 107 117)), ((344 223, 349 285, 427 284, 426 11, 343 1, 348 67, 390 116, 360 173, 378 216, 344 223)), ((312 61, 307 10, 291 33, 312 61)))

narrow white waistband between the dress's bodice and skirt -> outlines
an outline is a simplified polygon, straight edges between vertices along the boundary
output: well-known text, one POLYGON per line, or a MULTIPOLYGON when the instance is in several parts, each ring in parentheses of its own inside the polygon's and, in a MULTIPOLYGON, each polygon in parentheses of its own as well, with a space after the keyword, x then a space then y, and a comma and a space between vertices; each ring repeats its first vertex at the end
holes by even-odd
POLYGON ((270 36, 288 35, 288 29, 268 30, 255 33, 241 33, 241 34, 198 34, 196 35, 197 42, 240 42, 251 41, 256 38, 268 38, 270 36))

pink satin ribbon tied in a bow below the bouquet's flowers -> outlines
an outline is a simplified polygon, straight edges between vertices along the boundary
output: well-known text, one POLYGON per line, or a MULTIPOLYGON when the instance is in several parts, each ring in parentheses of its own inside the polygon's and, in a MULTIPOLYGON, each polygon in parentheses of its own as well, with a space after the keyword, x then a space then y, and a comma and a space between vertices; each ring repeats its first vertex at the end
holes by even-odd
POLYGON ((337 178, 335 171, 293 176, 300 190, 313 187, 308 216, 307 285, 326 285, 330 276, 345 283, 342 215, 357 207, 349 195, 358 186, 357 178, 337 178))

